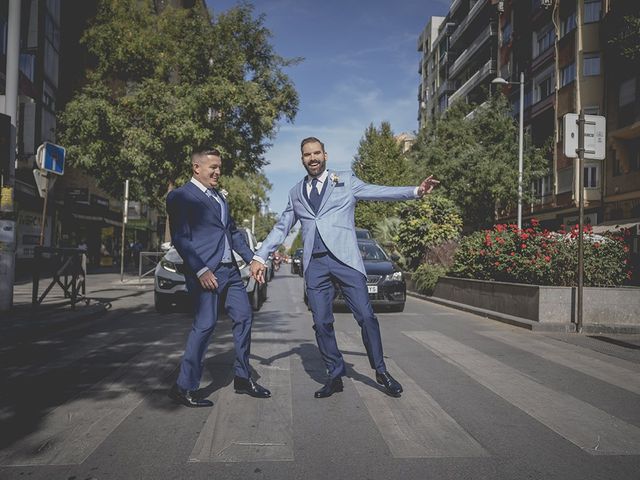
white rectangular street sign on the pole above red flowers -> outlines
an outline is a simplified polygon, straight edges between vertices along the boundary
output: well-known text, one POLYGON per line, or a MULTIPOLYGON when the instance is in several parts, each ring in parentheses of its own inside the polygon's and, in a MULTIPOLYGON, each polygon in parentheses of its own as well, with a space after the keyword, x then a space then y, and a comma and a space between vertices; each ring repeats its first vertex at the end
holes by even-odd
MULTIPOLYGON (((585 115, 584 119, 584 158, 604 160, 607 146, 606 119, 601 115, 585 115)), ((564 155, 568 158, 578 158, 578 114, 565 114, 562 124, 564 155)))

